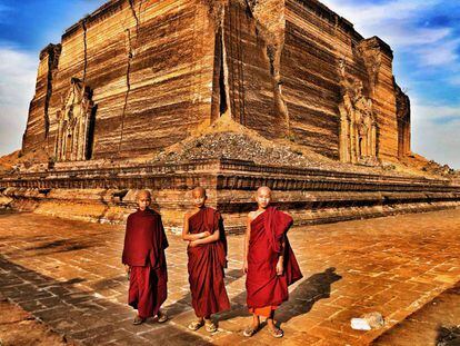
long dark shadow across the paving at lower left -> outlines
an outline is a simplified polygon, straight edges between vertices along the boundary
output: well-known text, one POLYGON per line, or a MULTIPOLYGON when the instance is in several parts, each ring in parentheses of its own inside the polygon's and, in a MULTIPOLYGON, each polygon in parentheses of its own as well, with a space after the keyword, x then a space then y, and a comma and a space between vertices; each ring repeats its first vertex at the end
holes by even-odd
POLYGON ((9 261, 0 255, 0 294, 43 320, 56 332, 81 343, 99 345, 210 345, 171 324, 148 320, 133 326, 133 310, 9 261), (137 335, 141 333, 140 335, 137 335))

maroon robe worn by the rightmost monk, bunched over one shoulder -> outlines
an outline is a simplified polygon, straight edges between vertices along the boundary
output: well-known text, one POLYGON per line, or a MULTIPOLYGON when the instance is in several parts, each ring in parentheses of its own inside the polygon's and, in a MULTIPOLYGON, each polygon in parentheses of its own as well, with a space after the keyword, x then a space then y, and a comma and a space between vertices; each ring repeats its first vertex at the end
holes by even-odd
POLYGON ((268 207, 251 223, 246 288, 249 308, 279 306, 288 300, 288 286, 302 278, 287 231, 292 218, 274 207, 268 207), (286 240, 283 275, 277 275, 277 263, 286 240))

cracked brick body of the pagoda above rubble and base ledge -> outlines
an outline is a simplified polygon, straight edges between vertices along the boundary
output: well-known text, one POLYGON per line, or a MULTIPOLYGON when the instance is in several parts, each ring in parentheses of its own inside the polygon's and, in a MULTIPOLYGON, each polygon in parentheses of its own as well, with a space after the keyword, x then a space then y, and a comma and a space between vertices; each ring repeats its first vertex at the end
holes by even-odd
POLYGON ((22 150, 138 156, 227 111, 343 161, 394 159, 410 107, 392 59, 318 1, 110 1, 41 52, 22 150))

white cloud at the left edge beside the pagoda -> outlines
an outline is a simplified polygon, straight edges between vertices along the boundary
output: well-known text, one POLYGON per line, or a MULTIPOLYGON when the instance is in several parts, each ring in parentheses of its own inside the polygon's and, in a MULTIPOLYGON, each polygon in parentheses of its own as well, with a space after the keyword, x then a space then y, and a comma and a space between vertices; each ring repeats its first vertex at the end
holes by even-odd
POLYGON ((0 47, 0 156, 21 147, 33 97, 38 57, 0 47))

